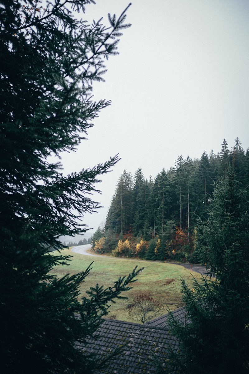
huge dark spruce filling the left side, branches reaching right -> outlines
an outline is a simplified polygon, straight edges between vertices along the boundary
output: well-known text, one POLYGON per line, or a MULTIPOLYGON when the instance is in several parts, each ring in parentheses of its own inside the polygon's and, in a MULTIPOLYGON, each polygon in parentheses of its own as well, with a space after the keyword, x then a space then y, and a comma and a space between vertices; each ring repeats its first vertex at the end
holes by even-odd
POLYGON ((71 151, 109 101, 93 101, 104 59, 117 54, 125 12, 87 24, 75 17, 93 0, 0 2, 0 371, 91 373, 96 361, 76 349, 129 289, 136 271, 113 287, 78 300, 90 266, 50 275, 70 258, 59 237, 87 230, 83 215, 98 208, 89 193, 117 156, 64 177, 49 156, 71 151), (76 213, 75 213, 76 212, 76 213), (78 317, 75 318, 75 314, 78 317))

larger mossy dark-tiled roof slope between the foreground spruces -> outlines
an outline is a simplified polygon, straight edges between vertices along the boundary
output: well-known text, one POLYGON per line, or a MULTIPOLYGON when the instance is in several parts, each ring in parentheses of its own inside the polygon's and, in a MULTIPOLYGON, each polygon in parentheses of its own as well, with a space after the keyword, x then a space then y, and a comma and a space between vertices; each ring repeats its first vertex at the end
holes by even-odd
POLYGON ((87 346, 82 346, 82 349, 103 359, 120 345, 124 345, 122 353, 108 361, 106 367, 96 371, 96 374, 156 373, 155 357, 163 364, 167 347, 171 345, 172 349, 177 349, 178 344, 168 329, 105 319, 94 333, 94 338, 89 339, 87 346))

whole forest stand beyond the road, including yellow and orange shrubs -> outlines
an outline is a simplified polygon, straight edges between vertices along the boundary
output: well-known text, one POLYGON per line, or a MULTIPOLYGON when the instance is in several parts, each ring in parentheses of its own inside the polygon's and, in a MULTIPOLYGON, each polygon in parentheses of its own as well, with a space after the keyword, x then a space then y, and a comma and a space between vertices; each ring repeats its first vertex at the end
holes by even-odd
POLYGON ((169 170, 144 178, 124 170, 117 182, 105 226, 92 237, 100 253, 147 260, 201 262, 196 223, 207 218, 212 205, 213 183, 234 165, 242 187, 249 183, 249 148, 238 138, 231 149, 224 139, 220 152, 201 158, 177 157, 169 170))

